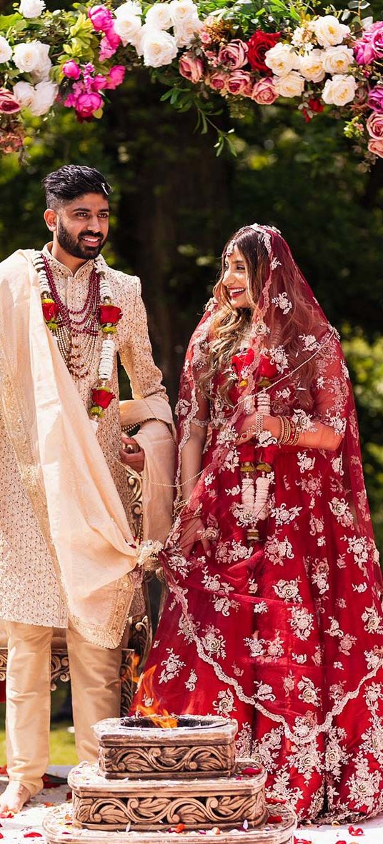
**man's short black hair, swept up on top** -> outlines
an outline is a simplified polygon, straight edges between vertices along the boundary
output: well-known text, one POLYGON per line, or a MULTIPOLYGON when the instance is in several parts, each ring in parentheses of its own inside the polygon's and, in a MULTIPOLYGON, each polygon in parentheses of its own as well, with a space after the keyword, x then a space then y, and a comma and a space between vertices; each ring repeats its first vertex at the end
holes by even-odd
POLYGON ((99 170, 76 164, 67 164, 59 170, 53 170, 41 184, 45 189, 47 208, 54 210, 85 193, 102 193, 107 198, 112 193, 111 185, 99 170))

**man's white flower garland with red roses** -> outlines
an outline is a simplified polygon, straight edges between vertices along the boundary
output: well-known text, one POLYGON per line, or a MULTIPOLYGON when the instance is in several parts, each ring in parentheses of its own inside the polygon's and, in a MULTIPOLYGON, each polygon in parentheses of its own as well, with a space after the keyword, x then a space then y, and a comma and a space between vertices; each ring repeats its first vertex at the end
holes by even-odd
MULTIPOLYGON (((47 258, 42 252, 34 252, 32 257, 33 265, 39 276, 39 288, 41 295, 41 306, 47 327, 57 341, 61 327, 60 311, 63 302, 57 301, 52 290, 50 281, 51 270, 47 258)), ((116 354, 116 344, 111 335, 117 331, 118 320, 123 316, 120 308, 112 304, 112 289, 105 273, 105 264, 99 256, 94 262, 94 270, 97 279, 100 304, 97 307, 97 320, 99 332, 102 336, 101 354, 98 365, 98 379, 96 387, 91 389, 91 404, 89 415, 92 425, 97 430, 98 420, 104 415, 104 410, 109 407, 115 397, 110 387, 112 380, 113 365, 116 354)))

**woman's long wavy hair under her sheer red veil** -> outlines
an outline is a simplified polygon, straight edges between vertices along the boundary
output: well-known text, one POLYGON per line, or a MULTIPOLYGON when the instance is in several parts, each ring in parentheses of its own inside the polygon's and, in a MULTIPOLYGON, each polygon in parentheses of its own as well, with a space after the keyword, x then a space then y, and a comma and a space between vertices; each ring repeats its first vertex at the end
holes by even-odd
MULTIPOLYGON (((231 361, 243 343, 243 337, 249 333, 251 323, 256 319, 257 311, 262 311, 263 289, 271 273, 269 300, 286 294, 291 302, 290 310, 283 314, 282 309, 270 305, 265 314, 265 324, 269 333, 265 336, 266 348, 283 346, 287 358, 293 361, 293 368, 309 358, 309 352, 302 350, 299 335, 309 334, 315 325, 314 308, 306 299, 304 277, 293 260, 293 256, 281 235, 273 234, 273 269, 271 272, 270 256, 265 246, 263 233, 252 226, 244 226, 236 231, 227 241, 222 252, 222 268, 213 289, 218 311, 211 325, 207 365, 200 377, 200 391, 206 398, 211 398, 212 382, 220 373, 218 392, 223 402, 232 406, 230 389, 237 380, 231 361), (230 247, 238 246, 247 270, 247 293, 251 306, 235 308, 223 284, 226 272, 226 258, 230 247), (276 262, 278 262, 276 264, 276 262)), ((323 328, 326 329, 324 323, 323 328)), ((315 334, 318 333, 316 326, 315 334)), ((308 362, 299 371, 300 403, 304 409, 312 405, 310 386, 314 375, 314 363, 308 362)))

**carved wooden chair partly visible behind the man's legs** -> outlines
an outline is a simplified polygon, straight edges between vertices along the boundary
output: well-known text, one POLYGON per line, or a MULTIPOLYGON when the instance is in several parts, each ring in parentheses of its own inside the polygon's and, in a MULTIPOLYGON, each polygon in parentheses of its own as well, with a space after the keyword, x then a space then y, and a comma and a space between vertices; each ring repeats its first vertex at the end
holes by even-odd
MULTIPOLYGON (((134 531, 140 537, 142 526, 142 480, 138 473, 129 471, 128 484, 134 531)), ((150 600, 147 584, 143 587, 143 603, 140 614, 130 616, 123 636, 123 656, 121 662, 121 715, 126 715, 134 695, 134 677, 140 673, 151 644, 150 600), (134 659, 134 657, 138 657, 134 659)), ((7 670, 7 634, 0 620, 0 680, 5 679, 7 670)), ((57 689, 57 682, 70 679, 68 651, 65 630, 55 628, 52 639, 51 689, 57 689)))

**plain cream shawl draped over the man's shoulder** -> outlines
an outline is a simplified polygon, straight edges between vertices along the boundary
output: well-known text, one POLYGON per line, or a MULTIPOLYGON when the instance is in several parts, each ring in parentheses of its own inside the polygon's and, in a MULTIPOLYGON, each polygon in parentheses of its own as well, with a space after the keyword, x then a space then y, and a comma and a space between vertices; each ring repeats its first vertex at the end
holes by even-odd
POLYGON ((0 409, 69 616, 117 647, 140 582, 118 491, 41 310, 32 252, 0 268, 0 409))

